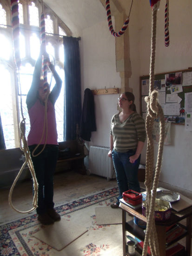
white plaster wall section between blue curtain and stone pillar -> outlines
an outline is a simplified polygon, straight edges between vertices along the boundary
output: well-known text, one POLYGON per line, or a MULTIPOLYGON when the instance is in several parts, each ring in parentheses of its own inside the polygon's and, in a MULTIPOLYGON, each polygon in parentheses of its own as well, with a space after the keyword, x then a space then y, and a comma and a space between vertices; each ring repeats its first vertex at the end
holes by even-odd
MULTIPOLYGON (((103 11, 106 15, 105 9, 103 11)), ((116 72, 115 38, 109 33, 107 20, 84 29, 80 44, 83 103, 86 88, 119 88, 120 77, 116 72)), ((97 131, 92 132, 89 146, 109 147, 110 124, 112 116, 118 112, 118 97, 119 94, 94 95, 97 131)))

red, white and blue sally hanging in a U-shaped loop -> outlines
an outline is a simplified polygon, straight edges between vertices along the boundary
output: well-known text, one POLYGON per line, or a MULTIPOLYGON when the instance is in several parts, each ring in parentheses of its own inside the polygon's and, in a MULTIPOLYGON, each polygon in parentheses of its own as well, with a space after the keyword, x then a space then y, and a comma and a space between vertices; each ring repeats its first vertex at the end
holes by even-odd
MULTIPOLYGON (((132 2, 133 2, 133 0, 132 0, 132 2)), ((126 28, 129 24, 129 16, 130 16, 130 13, 131 13, 131 8, 132 8, 132 3, 131 3, 130 10, 129 10, 129 15, 126 18, 126 21, 124 22, 123 27, 121 28, 121 30, 119 30, 119 32, 115 32, 114 29, 113 29, 113 24, 112 24, 110 2, 109 2, 109 0, 106 0, 106 15, 107 15, 107 20, 108 20, 109 31, 114 37, 119 37, 119 36, 121 36, 122 34, 125 33, 126 28)))

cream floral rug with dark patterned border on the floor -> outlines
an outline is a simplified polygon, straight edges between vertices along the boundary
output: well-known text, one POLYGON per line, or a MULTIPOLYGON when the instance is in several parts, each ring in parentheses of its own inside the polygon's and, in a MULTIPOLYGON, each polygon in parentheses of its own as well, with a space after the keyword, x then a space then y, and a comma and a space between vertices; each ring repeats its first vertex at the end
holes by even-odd
POLYGON ((36 214, 1 225, 0 255, 121 256, 121 224, 97 225, 95 216, 96 207, 109 206, 116 202, 118 195, 118 188, 113 188, 56 207, 62 219, 87 229, 86 233, 60 251, 33 236, 45 227, 37 221, 36 214))

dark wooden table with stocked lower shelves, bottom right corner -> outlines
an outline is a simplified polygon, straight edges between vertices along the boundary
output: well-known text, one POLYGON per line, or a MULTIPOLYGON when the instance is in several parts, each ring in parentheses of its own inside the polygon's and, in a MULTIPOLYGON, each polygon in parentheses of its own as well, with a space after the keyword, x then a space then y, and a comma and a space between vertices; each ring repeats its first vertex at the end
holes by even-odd
MULTIPOLYGON (((134 223, 133 220, 126 222, 126 212, 130 213, 132 216, 139 218, 146 222, 146 217, 142 215, 142 209, 132 209, 127 203, 121 199, 119 207, 122 211, 122 225, 123 225, 123 255, 130 255, 128 253, 128 248, 126 245, 126 231, 131 233, 133 236, 137 237, 140 241, 145 240, 145 232, 144 229, 139 227, 134 223)), ((174 244, 177 243, 180 239, 186 237, 185 241, 185 255, 190 256, 191 252, 191 233, 192 233, 192 207, 188 207, 185 210, 180 211, 179 213, 172 210, 170 219, 164 222, 156 221, 156 229, 159 240, 159 251, 160 255, 166 255, 166 252, 171 247, 174 247, 174 244), (186 226, 181 225, 179 221, 186 219, 186 226), (170 228, 172 227, 172 229, 170 228), (177 234, 176 234, 177 233, 177 234), (167 235, 167 237, 166 237, 167 235), (169 242, 166 240, 169 238, 169 242)), ((179 244, 179 243, 178 243, 179 244)), ((175 245, 176 246, 176 245, 175 245)), ((182 246, 177 245, 178 249, 180 248, 183 252, 182 246)), ((176 248, 176 247, 175 247, 176 248)), ((177 248, 176 248, 177 249, 177 248)), ((167 254, 172 256, 173 249, 168 251, 167 254)), ((136 255, 138 255, 137 252, 136 255)))

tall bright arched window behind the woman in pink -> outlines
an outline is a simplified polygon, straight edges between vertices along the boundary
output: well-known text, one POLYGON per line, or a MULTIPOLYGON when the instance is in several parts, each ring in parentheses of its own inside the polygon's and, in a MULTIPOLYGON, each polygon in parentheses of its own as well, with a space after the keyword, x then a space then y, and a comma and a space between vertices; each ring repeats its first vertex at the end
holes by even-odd
MULTIPOLYGON (((41 13, 41 7, 39 9, 39 3, 41 1, 18 0, 21 66, 17 70, 14 58, 13 30, 11 26, 8 26, 11 25, 11 5, 8 6, 8 2, 10 0, 0 1, 0 115, 7 149, 19 147, 19 126, 22 120, 21 100, 22 112, 26 119, 26 137, 30 130, 30 121, 26 108, 26 95, 31 87, 35 61, 37 61, 40 53, 41 13)), ((57 65, 55 69, 64 83, 64 48, 62 36, 66 35, 66 33, 62 27, 65 27, 65 24, 50 8, 46 7, 45 10, 47 11, 45 13, 47 33, 46 52, 49 54, 50 61, 57 65), (51 17, 54 17, 54 19, 52 20, 51 17), (54 22, 56 23, 54 24, 54 22), (58 32, 60 36, 56 35, 58 32)), ((48 69, 48 82, 51 81, 51 75, 52 73, 48 69)), ((52 77, 51 90, 54 85, 55 80, 52 77)), ((58 141, 63 141, 64 84, 55 104, 55 115, 58 141)))

